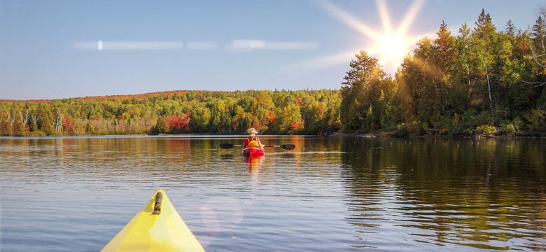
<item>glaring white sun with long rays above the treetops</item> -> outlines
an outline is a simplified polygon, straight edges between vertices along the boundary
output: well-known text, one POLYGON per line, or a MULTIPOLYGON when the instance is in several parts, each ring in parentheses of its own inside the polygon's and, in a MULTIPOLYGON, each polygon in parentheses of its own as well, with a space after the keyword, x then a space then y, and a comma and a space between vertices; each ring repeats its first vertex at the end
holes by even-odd
POLYGON ((388 73, 394 73, 410 52, 412 46, 419 40, 420 36, 409 37, 407 30, 412 25, 414 18, 424 4, 424 0, 414 0, 409 6, 406 15, 396 29, 391 26, 391 18, 388 15, 387 6, 384 0, 376 0, 377 12, 381 18, 382 30, 372 29, 349 13, 335 6, 327 0, 319 1, 321 7, 327 13, 343 22, 348 27, 358 31, 365 36, 365 43, 347 52, 340 52, 335 55, 326 55, 305 62, 307 66, 321 66, 325 64, 339 64, 346 62, 348 57, 354 57, 356 52, 365 50, 368 55, 377 58, 378 63, 388 73))

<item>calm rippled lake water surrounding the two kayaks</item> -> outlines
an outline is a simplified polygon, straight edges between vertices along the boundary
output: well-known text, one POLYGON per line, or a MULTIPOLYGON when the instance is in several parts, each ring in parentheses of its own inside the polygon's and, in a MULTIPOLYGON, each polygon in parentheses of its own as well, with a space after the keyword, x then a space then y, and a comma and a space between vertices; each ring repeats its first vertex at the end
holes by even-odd
POLYGON ((157 189, 207 251, 546 251, 546 141, 0 138, 0 250, 99 251, 157 189))

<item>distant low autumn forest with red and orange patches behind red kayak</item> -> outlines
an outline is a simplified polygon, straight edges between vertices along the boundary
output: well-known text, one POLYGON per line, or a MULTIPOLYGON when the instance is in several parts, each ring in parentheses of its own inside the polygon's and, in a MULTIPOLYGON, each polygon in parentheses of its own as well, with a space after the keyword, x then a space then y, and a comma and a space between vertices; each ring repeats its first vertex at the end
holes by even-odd
POLYGON ((338 90, 173 91, 0 101, 0 134, 325 134, 340 128, 338 90))

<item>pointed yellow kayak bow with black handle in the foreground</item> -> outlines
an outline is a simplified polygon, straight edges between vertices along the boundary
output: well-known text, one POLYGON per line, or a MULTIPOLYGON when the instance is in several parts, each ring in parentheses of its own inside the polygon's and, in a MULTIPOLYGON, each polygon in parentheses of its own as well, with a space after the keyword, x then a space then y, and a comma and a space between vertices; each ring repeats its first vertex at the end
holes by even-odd
POLYGON ((167 194, 163 190, 157 190, 144 208, 104 246, 102 251, 204 251, 204 249, 176 212, 167 194))

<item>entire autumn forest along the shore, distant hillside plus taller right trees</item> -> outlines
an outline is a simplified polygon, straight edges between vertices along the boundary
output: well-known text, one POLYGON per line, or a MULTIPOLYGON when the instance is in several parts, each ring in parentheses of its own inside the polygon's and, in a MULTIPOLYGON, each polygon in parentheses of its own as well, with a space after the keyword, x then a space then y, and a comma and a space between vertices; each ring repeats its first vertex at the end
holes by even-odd
MULTIPOLYGON (((497 29, 484 10, 452 34, 442 22, 395 73, 360 51, 339 90, 180 90, 0 100, 3 136, 381 134, 546 136, 546 7, 497 29)), ((340 76, 341 77, 341 76, 340 76)))

